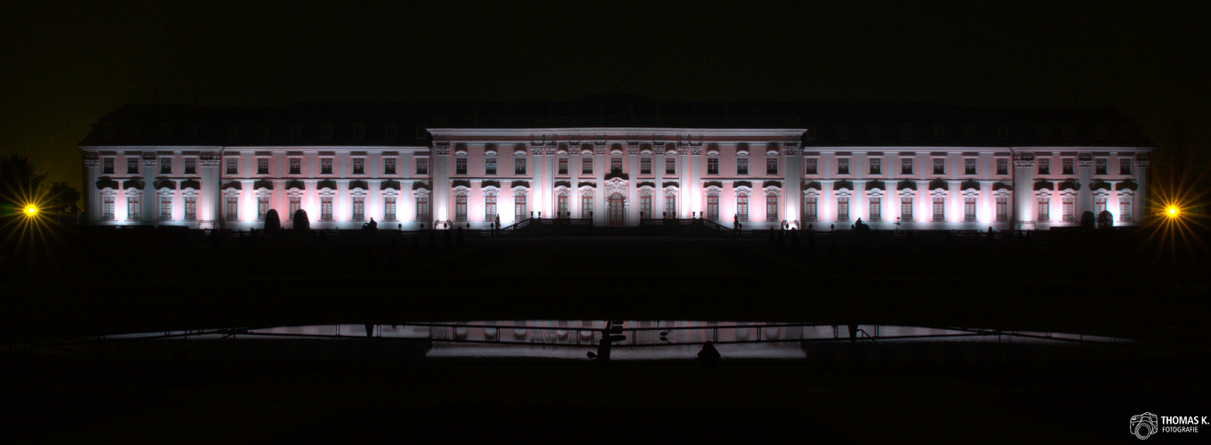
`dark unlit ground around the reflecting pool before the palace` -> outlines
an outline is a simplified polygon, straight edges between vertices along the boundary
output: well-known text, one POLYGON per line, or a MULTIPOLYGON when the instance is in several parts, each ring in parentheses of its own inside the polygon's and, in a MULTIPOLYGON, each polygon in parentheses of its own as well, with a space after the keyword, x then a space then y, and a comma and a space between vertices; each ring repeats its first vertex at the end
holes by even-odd
MULTIPOLYGON (((615 364, 183 363, 4 354, 21 441, 342 439, 1114 443, 1211 415, 1205 259, 1118 239, 68 237, 6 268, 6 345, 107 333, 469 319, 978 326, 1135 339, 1113 357, 615 364)), ((16 348, 21 351, 21 348, 16 348)), ((45 348, 40 349, 45 351, 45 348)), ((1161 434, 1155 439, 1199 439, 1161 434)))

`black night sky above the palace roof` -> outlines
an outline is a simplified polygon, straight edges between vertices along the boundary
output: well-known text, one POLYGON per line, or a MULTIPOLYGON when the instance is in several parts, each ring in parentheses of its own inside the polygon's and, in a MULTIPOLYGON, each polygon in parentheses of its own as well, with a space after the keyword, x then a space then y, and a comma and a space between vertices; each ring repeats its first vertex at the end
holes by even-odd
POLYGON ((1201 2, 431 4, 5 2, 0 151, 79 186, 75 144, 128 103, 591 93, 1108 105, 1159 162, 1211 145, 1201 2))

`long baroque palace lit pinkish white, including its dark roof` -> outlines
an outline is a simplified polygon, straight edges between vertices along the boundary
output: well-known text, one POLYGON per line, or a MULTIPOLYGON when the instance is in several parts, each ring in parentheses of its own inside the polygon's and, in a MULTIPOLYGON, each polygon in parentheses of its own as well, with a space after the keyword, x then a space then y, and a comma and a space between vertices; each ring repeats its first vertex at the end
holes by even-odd
POLYGON ((1046 229, 1146 212, 1152 143, 1104 108, 671 103, 127 105, 80 143, 96 225, 1046 229))

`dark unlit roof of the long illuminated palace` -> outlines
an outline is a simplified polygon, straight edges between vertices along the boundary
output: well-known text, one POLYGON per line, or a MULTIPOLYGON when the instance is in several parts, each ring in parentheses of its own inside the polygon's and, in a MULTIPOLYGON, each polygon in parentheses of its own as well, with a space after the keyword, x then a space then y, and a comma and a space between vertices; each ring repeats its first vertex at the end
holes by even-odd
POLYGON ((426 146, 426 128, 807 128, 805 146, 1153 146, 1109 108, 922 103, 580 102, 126 105, 91 145, 426 146))

